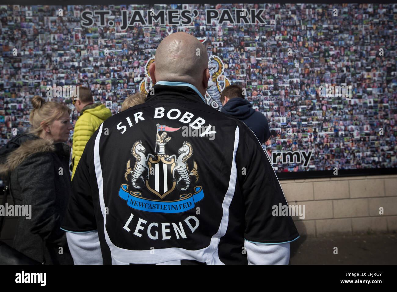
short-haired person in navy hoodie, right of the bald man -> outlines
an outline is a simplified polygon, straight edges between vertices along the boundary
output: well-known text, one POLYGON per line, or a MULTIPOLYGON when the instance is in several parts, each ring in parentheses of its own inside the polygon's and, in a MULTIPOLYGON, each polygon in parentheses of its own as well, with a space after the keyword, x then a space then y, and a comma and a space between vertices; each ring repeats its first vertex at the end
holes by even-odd
POLYGON ((252 104, 243 96, 243 88, 239 85, 229 85, 221 93, 221 112, 230 114, 246 124, 264 144, 270 138, 270 129, 266 117, 255 111, 252 104))

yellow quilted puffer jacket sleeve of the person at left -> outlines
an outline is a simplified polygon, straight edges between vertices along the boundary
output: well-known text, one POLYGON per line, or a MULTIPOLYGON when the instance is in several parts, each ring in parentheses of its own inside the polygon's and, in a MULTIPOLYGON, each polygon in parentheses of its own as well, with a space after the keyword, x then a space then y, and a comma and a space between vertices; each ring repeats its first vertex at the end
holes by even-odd
POLYGON ((81 155, 83 155, 85 145, 87 144, 88 140, 91 138, 95 130, 95 126, 89 120, 87 120, 86 116, 82 115, 80 116, 80 118, 77 119, 73 133, 73 170, 71 176, 72 180, 77 169, 77 164, 79 164, 81 155))

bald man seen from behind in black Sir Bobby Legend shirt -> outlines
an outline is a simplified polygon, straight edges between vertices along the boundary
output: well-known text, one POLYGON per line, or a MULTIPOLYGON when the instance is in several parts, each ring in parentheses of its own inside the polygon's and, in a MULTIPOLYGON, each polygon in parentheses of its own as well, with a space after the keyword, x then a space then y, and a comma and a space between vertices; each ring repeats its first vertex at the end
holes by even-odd
POLYGON ((206 104, 204 45, 169 35, 149 73, 145 103, 102 123, 77 166, 75 264, 288 264, 288 203, 254 133, 206 104))

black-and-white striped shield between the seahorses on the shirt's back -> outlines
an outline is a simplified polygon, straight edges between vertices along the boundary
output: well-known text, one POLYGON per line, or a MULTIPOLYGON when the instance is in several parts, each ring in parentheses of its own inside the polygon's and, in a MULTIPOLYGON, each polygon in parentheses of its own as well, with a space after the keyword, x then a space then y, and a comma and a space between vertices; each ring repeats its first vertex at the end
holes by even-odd
POLYGON ((172 179, 173 168, 175 167, 175 158, 167 161, 170 155, 156 155, 149 157, 148 166, 151 170, 149 179, 146 180, 146 188, 163 199, 166 195, 175 189, 175 181, 172 179))

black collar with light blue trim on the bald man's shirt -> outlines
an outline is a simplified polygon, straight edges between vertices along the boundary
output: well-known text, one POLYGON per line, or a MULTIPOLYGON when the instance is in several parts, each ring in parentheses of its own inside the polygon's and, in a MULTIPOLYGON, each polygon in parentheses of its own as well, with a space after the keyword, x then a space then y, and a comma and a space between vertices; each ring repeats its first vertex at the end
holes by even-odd
POLYGON ((154 95, 149 94, 145 100, 153 101, 158 98, 164 97, 177 97, 187 101, 193 102, 205 102, 202 94, 197 90, 197 88, 186 82, 173 82, 173 81, 158 81, 152 86, 154 89, 154 95))

